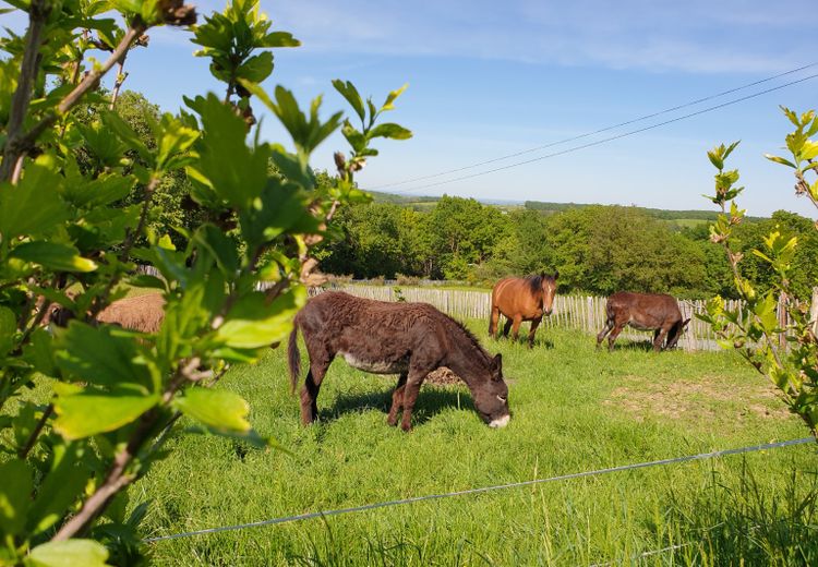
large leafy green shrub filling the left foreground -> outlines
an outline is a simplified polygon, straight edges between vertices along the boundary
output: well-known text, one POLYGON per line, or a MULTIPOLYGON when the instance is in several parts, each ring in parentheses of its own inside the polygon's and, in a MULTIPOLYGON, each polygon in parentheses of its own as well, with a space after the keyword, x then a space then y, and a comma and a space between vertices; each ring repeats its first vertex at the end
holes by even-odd
MULTIPOLYGON (((363 198, 353 177, 377 154, 372 142, 411 135, 378 123, 402 88, 364 106, 353 85, 334 82, 360 128, 341 112, 321 120, 320 98, 304 111, 284 87, 268 95, 260 83, 273 71, 269 49, 298 41, 272 31, 256 0, 234 0, 193 28, 227 96, 185 99, 181 114, 158 117, 135 100, 148 136, 93 92, 146 31, 195 23, 191 5, 13 4, 29 26, 0 45, 0 564, 135 564, 145 506, 129 512, 127 487, 166 456, 164 432, 179 417, 199 433, 274 444, 240 396, 212 386, 291 329, 304 286, 323 279, 312 250, 338 207, 363 198), (100 17, 111 7, 125 28, 100 17), (80 79, 88 31, 116 47, 80 79), (294 152, 253 135, 251 99, 282 123, 294 152), (337 178, 320 186, 310 157, 337 129, 351 150, 336 154, 337 178), (152 210, 182 172, 205 218, 234 220, 232 238, 209 221, 178 227, 178 244, 151 229, 173 221, 152 210), (161 277, 135 275, 133 258, 161 277), (123 284, 161 292, 158 331, 97 321, 123 284), (73 321, 50 334, 52 306, 73 321), (32 386, 46 393, 41 403, 21 396, 32 386)), ((128 117, 122 98, 117 107, 128 117)))

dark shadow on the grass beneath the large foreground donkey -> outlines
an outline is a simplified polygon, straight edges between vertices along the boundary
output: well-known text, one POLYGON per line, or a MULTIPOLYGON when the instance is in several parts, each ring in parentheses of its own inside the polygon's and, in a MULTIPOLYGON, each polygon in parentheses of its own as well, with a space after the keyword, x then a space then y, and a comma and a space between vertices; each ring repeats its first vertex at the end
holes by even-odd
MULTIPOLYGON (((397 383, 397 381, 396 381, 397 383)), ((347 413, 363 410, 377 410, 386 414, 392 406, 393 389, 387 391, 369 391, 359 394, 340 394, 330 408, 318 410, 318 419, 330 423, 347 413)), ((436 386, 424 383, 418 394, 418 401, 412 411, 412 426, 421 425, 447 408, 473 410, 471 396, 454 386, 436 386)))

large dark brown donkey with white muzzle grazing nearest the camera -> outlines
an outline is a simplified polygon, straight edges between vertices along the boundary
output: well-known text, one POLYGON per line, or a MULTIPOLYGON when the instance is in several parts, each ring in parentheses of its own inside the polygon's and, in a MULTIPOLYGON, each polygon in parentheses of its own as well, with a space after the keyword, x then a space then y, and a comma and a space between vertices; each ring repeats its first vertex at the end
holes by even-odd
POLYGON ((308 301, 296 315, 288 362, 296 389, 300 375, 298 329, 310 354, 310 371, 301 388, 301 422, 312 423, 315 403, 329 363, 336 354, 349 365, 373 374, 399 374, 387 422, 411 429, 412 408, 426 374, 452 369, 471 390, 480 417, 492 427, 508 423, 508 387, 500 354, 489 354, 462 325, 426 303, 389 303, 327 291, 308 301))

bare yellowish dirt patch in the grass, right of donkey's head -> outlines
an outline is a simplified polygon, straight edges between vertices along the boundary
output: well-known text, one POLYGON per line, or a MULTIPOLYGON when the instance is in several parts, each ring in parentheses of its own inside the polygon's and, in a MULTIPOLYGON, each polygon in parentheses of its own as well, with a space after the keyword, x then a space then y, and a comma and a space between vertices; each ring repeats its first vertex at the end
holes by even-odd
POLYGON ((646 383, 643 377, 626 376, 621 382, 622 385, 603 403, 625 410, 637 421, 648 417, 707 419, 724 417, 725 411, 739 420, 746 417, 779 420, 791 417, 784 405, 777 400, 772 385, 761 381, 736 386, 718 376, 669 383, 646 383))

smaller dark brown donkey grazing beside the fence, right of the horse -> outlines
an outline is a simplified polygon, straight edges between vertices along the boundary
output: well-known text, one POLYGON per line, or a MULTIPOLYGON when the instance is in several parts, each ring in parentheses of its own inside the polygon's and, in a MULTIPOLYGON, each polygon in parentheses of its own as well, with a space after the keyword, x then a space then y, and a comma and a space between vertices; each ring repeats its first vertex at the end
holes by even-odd
POLYGON ((625 325, 638 330, 653 330, 653 350, 657 352, 672 349, 690 322, 682 319, 678 303, 672 295, 663 293, 631 293, 619 291, 608 298, 605 305, 608 319, 605 327, 597 335, 597 348, 608 337, 608 349, 613 350, 613 343, 625 325), (662 346, 665 336, 667 343, 662 346))

